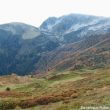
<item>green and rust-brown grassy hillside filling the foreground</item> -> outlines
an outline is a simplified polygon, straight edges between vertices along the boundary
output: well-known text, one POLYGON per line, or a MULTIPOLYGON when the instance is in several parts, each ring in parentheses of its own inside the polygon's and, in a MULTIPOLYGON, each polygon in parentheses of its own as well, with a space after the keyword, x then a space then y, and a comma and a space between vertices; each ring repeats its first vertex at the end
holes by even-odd
POLYGON ((17 81, 15 75, 1 77, 0 110, 80 110, 81 106, 103 105, 110 107, 110 66, 48 72, 39 78, 16 76, 16 79, 17 81), (3 83, 9 77, 11 81, 3 83))

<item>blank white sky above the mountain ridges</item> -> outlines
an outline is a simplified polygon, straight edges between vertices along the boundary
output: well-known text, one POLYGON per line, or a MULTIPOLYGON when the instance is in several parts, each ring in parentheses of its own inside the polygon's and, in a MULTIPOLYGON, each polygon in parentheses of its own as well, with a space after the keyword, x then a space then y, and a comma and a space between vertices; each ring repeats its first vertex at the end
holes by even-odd
POLYGON ((0 24, 23 22, 39 27, 48 17, 71 13, 110 17, 110 0, 0 0, 0 24))

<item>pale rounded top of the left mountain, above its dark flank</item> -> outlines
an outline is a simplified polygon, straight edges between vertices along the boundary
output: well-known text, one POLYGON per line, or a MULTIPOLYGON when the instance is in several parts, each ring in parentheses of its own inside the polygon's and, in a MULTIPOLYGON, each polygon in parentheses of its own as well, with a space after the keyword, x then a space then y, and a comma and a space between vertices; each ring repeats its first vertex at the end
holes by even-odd
POLYGON ((13 35, 21 35, 23 39, 32 39, 40 35, 38 28, 18 22, 0 25, 0 29, 11 32, 13 35))

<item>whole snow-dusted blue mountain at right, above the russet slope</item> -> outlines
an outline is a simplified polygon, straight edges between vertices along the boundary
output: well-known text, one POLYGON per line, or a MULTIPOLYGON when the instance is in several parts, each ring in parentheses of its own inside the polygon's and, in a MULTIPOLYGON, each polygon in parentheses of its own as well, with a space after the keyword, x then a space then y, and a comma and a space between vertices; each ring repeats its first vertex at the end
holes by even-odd
POLYGON ((56 34, 63 43, 72 43, 88 35, 109 32, 110 18, 70 14, 48 18, 40 29, 56 34))

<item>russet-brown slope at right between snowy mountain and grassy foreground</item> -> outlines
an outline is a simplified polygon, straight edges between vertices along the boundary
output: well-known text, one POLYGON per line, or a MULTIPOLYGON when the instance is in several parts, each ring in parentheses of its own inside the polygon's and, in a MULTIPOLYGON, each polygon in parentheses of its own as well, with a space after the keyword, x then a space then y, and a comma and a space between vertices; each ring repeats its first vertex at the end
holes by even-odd
POLYGON ((109 64, 110 34, 89 36, 45 54, 37 63, 39 71, 100 67, 109 64), (49 56, 49 57, 48 57, 49 56), (43 62, 43 63, 41 63, 43 62))

